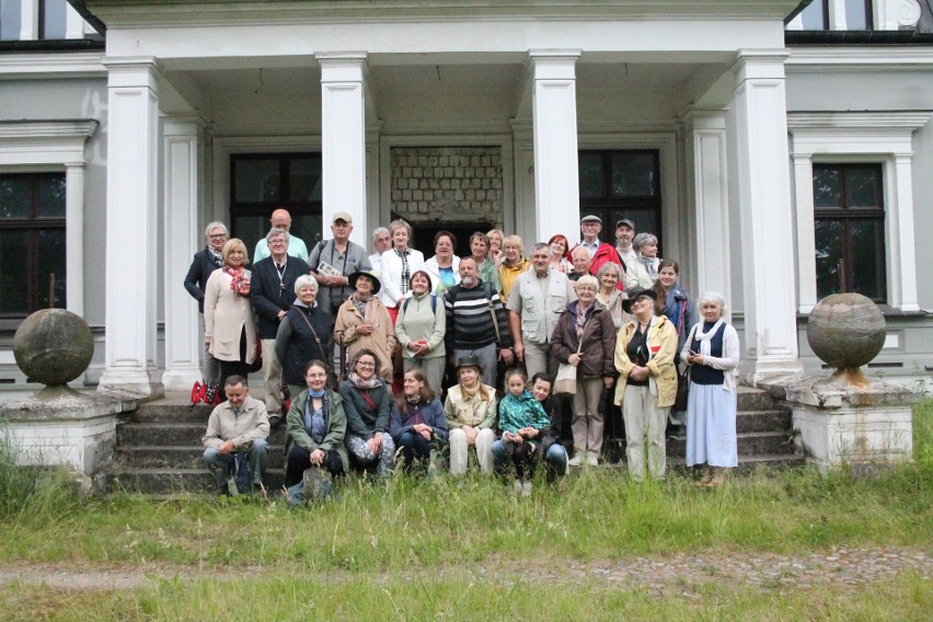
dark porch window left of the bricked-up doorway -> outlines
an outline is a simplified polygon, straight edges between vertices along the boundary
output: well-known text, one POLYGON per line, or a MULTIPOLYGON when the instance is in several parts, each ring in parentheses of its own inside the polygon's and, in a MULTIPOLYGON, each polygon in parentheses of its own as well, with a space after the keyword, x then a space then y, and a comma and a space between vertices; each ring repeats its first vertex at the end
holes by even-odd
POLYGON ((321 154, 250 153, 230 158, 231 234, 252 260, 256 242, 269 230, 273 210, 291 214, 291 234, 310 251, 321 239, 321 154))

